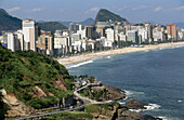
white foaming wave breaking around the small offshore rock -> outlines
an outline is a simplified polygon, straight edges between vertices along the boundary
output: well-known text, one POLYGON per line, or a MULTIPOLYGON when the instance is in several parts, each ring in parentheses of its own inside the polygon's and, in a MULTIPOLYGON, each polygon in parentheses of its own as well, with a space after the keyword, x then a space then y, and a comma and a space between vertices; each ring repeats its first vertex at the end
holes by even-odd
POLYGON ((161 106, 157 104, 148 104, 147 106, 144 106, 146 109, 129 109, 130 111, 147 111, 147 110, 154 110, 154 109, 159 109, 161 106))

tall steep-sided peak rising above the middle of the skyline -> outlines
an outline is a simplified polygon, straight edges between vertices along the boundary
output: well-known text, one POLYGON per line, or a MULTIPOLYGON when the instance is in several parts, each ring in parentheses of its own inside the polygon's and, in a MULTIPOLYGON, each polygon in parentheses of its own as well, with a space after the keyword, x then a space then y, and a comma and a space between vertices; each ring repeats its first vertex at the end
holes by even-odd
POLYGON ((95 23, 96 22, 108 22, 108 21, 113 21, 113 22, 128 22, 126 18, 122 18, 121 16, 106 10, 106 9, 101 9, 96 15, 95 18, 95 23))

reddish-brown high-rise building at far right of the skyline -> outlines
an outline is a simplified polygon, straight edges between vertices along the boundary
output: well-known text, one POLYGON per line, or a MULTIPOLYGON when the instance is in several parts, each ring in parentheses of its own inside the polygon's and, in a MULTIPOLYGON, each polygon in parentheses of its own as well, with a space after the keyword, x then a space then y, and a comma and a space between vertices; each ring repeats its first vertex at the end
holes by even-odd
POLYGON ((178 40, 178 26, 174 24, 168 24, 167 34, 170 35, 173 40, 178 40))

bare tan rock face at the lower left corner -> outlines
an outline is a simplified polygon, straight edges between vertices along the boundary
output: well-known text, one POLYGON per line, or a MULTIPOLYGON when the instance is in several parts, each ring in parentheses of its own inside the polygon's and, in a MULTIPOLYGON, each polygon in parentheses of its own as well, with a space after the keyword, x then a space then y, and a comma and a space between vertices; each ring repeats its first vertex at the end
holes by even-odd
POLYGON ((3 103, 9 107, 6 117, 29 116, 35 112, 35 109, 30 106, 26 106, 23 102, 18 101, 14 94, 6 93, 2 90, 3 103))

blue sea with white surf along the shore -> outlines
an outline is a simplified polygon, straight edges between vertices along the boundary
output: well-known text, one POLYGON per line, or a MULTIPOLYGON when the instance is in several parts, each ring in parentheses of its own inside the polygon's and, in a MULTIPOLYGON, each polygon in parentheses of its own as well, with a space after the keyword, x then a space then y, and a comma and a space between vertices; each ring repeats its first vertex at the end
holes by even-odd
MULTIPOLYGON (((184 120, 184 48, 104 56, 66 66, 70 75, 94 76, 152 106, 142 114, 184 120)), ((123 102, 122 102, 123 103, 123 102)))

